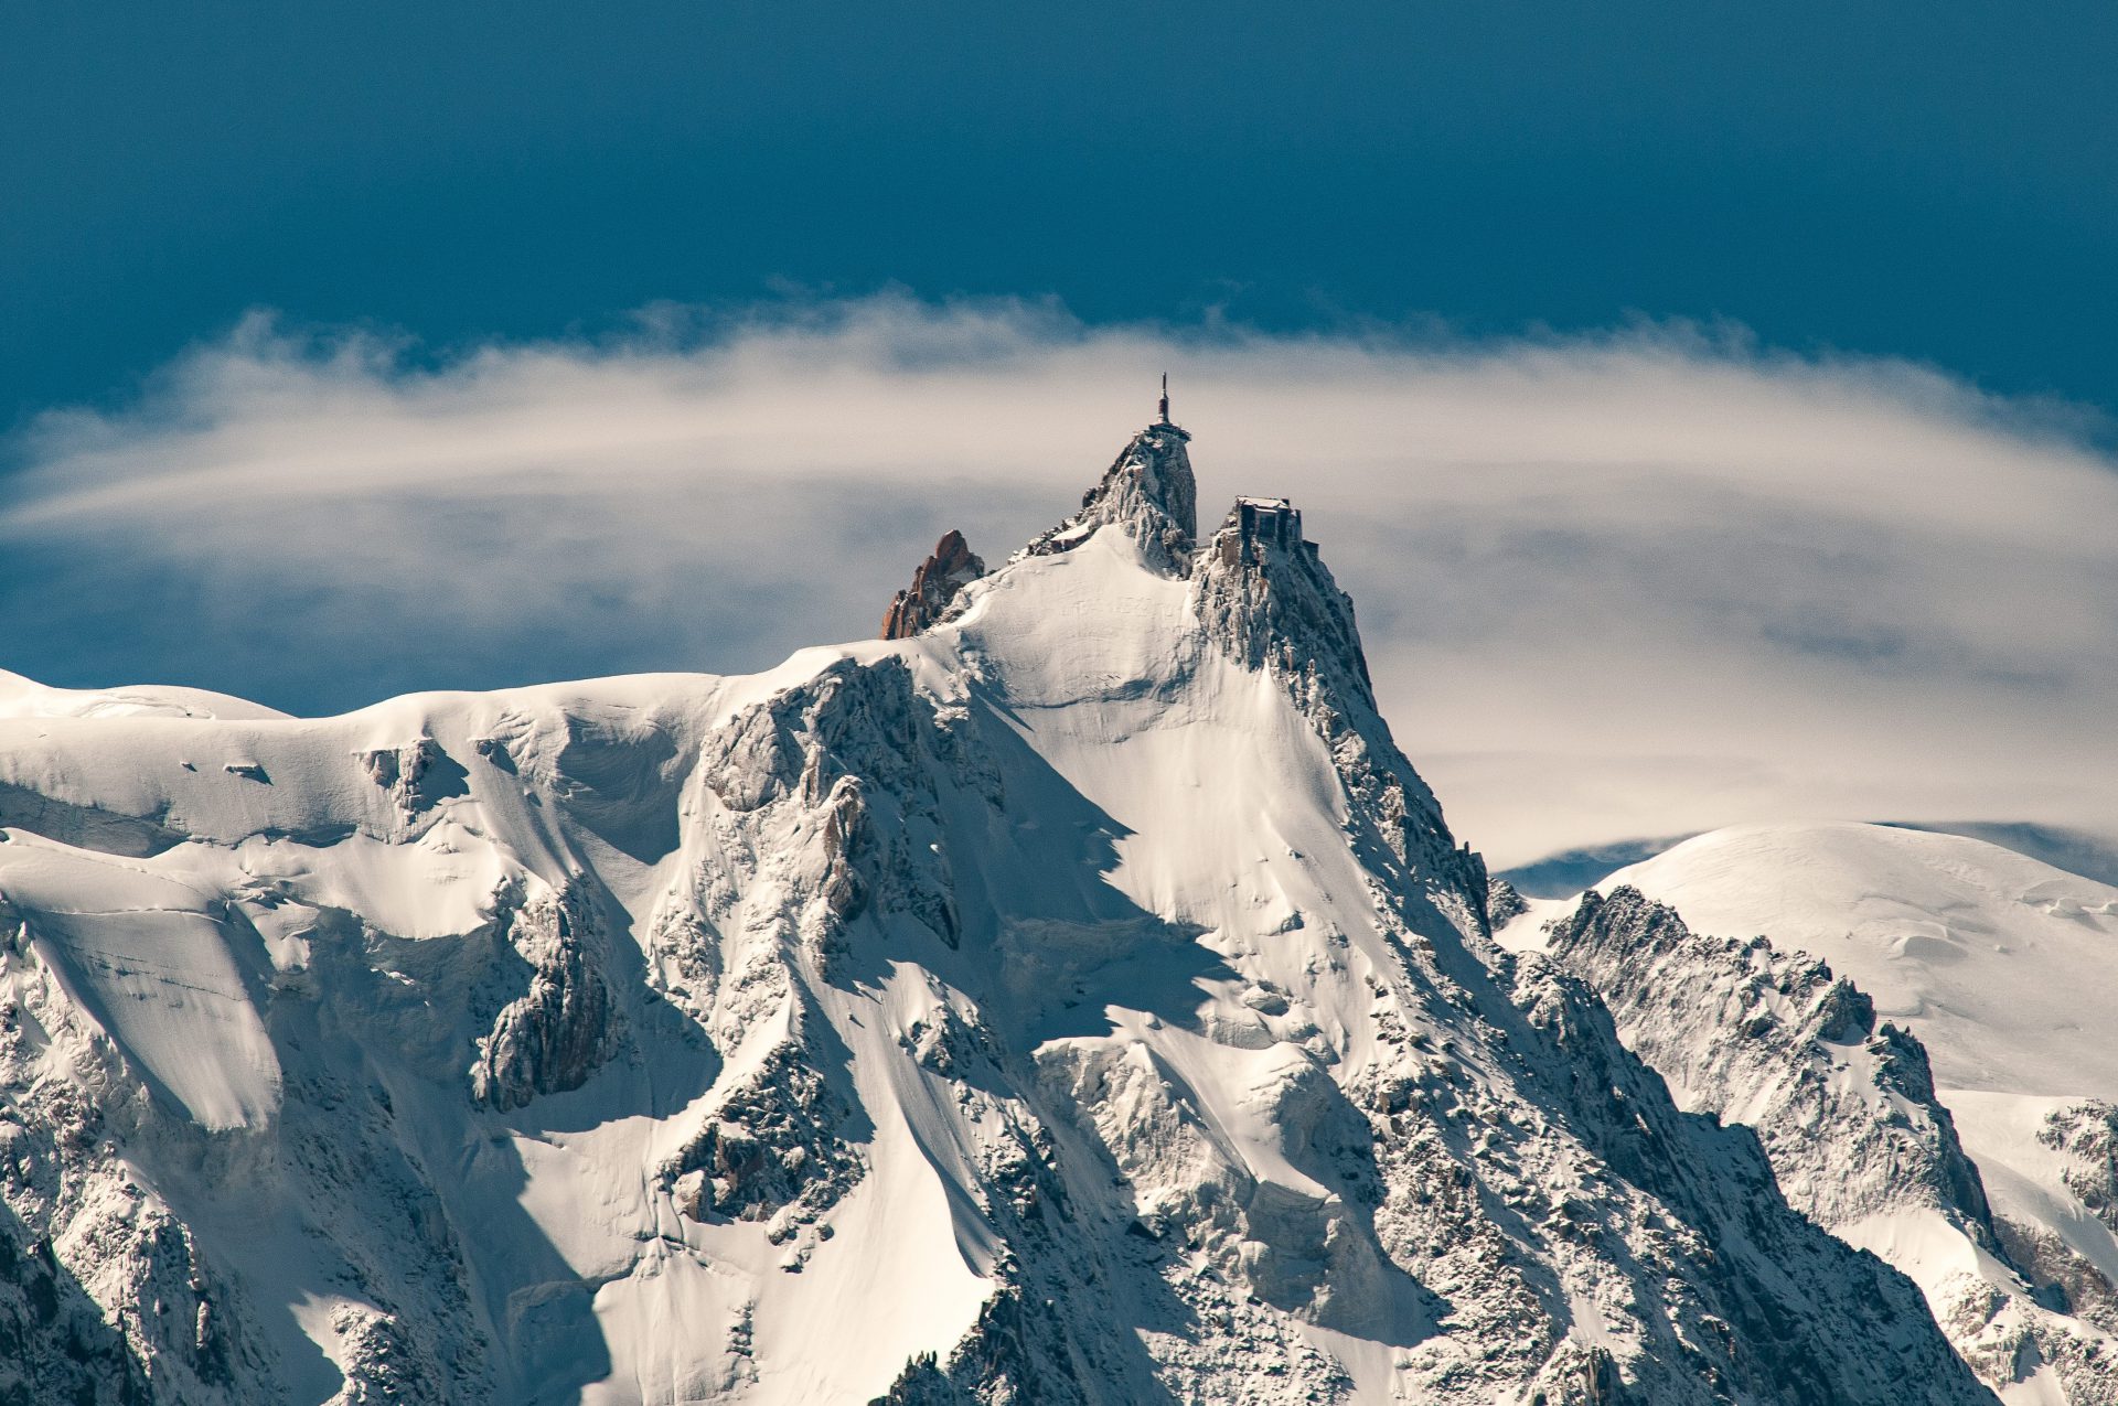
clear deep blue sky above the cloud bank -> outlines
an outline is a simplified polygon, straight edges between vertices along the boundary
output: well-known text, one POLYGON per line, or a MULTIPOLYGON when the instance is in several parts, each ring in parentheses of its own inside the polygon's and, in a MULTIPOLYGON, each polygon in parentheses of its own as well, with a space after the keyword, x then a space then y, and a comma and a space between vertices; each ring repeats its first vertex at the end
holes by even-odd
POLYGON ((2110 4, 0 17, 0 426, 248 307, 434 349, 788 286, 1631 313, 2118 404, 2110 4))

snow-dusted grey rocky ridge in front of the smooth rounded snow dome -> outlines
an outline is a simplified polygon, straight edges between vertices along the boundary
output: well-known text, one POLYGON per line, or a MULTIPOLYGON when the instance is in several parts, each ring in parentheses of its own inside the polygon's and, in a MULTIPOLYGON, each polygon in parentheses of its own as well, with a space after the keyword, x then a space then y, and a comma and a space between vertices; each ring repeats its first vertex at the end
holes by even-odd
MULTIPOLYGON (((1764 936, 1694 934, 1631 887, 1591 889, 1544 934, 1682 1107, 1754 1129, 1790 1205, 1921 1281, 1987 1385, 2027 1389, 2048 1372, 2074 1406, 2118 1402, 2107 1283, 2057 1243, 1995 1224, 1925 1048, 1879 1023, 1853 983, 1764 936), (1953 1254, 1936 1256, 1936 1241, 1953 1254)), ((2052 1114, 2046 1139, 2082 1158, 2086 1201, 2095 1118, 2052 1114)))

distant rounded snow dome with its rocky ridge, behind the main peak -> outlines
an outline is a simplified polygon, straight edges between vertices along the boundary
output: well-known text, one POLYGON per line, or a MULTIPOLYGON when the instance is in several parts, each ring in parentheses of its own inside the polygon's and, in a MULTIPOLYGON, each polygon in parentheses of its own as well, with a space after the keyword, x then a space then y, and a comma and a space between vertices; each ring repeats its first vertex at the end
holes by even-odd
POLYGON ((1599 889, 1500 940, 1584 976, 1682 1107, 1756 1129, 2006 1400, 2118 1400, 2118 887, 1834 822, 1701 834, 1599 889))

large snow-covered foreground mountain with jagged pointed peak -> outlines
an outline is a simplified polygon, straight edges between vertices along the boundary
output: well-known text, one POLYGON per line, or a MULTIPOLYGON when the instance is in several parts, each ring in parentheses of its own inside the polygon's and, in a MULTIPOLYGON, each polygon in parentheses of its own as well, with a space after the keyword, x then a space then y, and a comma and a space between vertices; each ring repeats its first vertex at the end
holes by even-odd
POLYGON ((1195 538, 1154 426, 917 635, 767 675, 333 720, 13 686, 6 1370, 1993 1400, 1754 1135, 1493 947, 1292 506, 1195 538), (116 830, 34 832, 83 811, 116 830))

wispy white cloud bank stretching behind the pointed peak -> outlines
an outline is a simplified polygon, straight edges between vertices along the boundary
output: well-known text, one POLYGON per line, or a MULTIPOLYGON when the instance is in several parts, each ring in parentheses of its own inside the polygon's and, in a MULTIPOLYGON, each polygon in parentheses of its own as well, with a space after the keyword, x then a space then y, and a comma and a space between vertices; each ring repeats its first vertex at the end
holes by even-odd
POLYGON ((0 578, 11 631, 275 703, 758 667, 870 631, 945 527, 998 559, 1059 519, 1169 368, 1205 515, 1300 502, 1400 741, 1497 864, 1745 819, 2118 819, 2118 472, 2050 407, 1669 328, 674 322, 424 364, 261 320, 49 415, 0 508, 42 563, 0 578))

